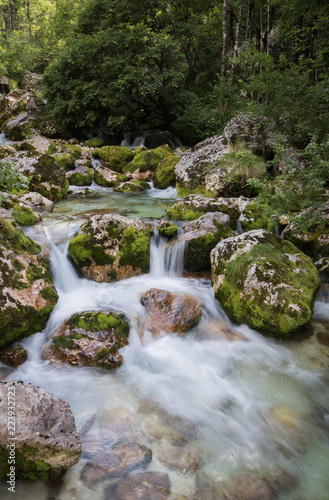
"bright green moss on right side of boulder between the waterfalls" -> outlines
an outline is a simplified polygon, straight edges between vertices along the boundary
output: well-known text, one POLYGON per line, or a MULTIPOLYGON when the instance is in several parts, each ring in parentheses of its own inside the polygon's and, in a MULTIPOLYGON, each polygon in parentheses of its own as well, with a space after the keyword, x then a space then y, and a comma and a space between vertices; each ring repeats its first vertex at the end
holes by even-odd
POLYGON ((150 236, 145 231, 136 231, 130 226, 123 232, 123 243, 118 255, 119 265, 131 265, 134 269, 141 268, 147 272, 150 268, 150 236))

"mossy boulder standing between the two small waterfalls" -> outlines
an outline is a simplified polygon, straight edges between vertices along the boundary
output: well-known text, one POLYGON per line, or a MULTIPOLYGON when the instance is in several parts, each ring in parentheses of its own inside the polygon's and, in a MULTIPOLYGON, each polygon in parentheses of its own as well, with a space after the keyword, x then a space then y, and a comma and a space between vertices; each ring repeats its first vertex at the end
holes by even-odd
POLYGON ((116 214, 95 215, 70 241, 69 253, 86 278, 116 281, 150 268, 152 225, 116 214))

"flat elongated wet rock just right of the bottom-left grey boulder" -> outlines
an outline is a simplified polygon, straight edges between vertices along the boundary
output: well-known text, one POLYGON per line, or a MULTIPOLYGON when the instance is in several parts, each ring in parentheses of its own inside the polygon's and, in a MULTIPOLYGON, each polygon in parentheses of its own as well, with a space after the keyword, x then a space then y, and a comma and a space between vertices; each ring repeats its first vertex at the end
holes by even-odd
POLYGON ((152 451, 140 444, 118 444, 98 455, 97 460, 87 462, 81 472, 81 480, 95 484, 107 478, 121 477, 136 468, 145 468, 152 460, 152 451))

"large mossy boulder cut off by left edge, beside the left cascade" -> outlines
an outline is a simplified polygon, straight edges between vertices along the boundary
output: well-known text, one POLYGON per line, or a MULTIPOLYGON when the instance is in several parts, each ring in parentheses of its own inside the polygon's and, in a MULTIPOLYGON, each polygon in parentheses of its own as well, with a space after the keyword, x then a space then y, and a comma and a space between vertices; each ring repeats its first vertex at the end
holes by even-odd
POLYGON ((43 330, 58 295, 41 248, 0 219, 0 347, 43 330))

